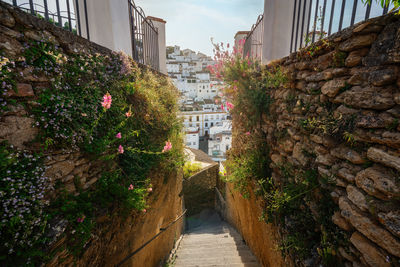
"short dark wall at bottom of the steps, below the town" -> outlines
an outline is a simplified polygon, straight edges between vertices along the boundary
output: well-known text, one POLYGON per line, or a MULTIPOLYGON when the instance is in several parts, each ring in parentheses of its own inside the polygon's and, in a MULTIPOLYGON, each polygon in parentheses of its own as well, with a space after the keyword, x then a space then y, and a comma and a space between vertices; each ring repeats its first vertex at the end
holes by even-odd
POLYGON ((183 181, 183 196, 188 216, 214 208, 219 165, 212 164, 183 181))

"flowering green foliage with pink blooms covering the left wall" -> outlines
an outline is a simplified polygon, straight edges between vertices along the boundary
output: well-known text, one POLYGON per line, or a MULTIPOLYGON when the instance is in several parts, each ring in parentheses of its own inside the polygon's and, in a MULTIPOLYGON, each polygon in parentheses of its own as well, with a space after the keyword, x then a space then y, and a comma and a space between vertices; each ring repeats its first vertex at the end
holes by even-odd
MULTIPOLYGON (((6 205, 8 199, 13 199, 11 195, 18 193, 32 207, 31 217, 21 217, 21 220, 19 213, 14 212, 0 223, 3 241, 0 249, 2 255, 7 255, 0 258, 0 263, 12 259, 21 265, 44 259, 41 251, 47 245, 43 234, 49 231, 48 221, 57 218, 68 221, 65 231, 68 249, 79 256, 92 236, 99 215, 127 216, 135 210, 145 211, 146 199, 152 191, 150 172, 167 173, 183 165, 177 92, 166 77, 137 67, 124 54, 67 56, 62 49, 47 42, 29 43, 23 53, 25 61, 20 58, 11 62, 2 57, 1 75, 7 90, 13 86, 18 67, 31 67, 32 75, 51 78, 49 88, 35 92, 35 103, 26 104, 40 130, 35 142, 48 154, 60 149, 80 151, 98 166, 100 178, 87 189, 85 180, 75 177, 79 194, 68 193, 59 183, 57 198, 47 207, 45 202, 40 204, 39 198, 29 199, 24 185, 21 187, 26 181, 43 198, 48 188, 39 186, 45 180, 44 169, 38 165, 39 157, 29 154, 24 158, 22 155, 28 152, 11 152, 1 147, 0 166, 7 170, 1 171, 2 204, 6 205), (107 94, 112 99, 109 107, 102 103, 107 94), (172 148, 165 150, 167 141, 172 148), (19 236, 15 237, 16 233, 19 236), (19 238, 24 238, 21 245, 14 244, 12 240, 19 238), (31 257, 30 251, 36 256, 31 257)), ((7 101, 5 106, 11 102, 7 101)))

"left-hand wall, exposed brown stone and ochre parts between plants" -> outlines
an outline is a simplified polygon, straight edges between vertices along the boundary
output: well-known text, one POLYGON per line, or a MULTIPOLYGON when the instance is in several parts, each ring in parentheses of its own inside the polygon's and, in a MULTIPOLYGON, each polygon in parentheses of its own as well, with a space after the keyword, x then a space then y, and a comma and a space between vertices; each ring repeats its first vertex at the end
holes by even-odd
MULTIPOLYGON (((16 59, 22 55, 24 43, 30 41, 51 42, 67 55, 88 52, 103 55, 112 53, 107 48, 0 1, 2 55, 16 59)), ((17 149, 38 151, 40 145, 35 143, 35 138, 39 130, 26 107, 35 105, 37 92, 42 88, 49 88, 52 77, 37 76, 29 68, 18 71, 20 75, 16 76, 17 91, 10 90, 7 95, 8 99, 13 99, 15 103, 10 105, 9 110, 0 114, 0 141, 7 141, 17 149)), ((54 199, 58 190, 65 189, 75 195, 82 192, 81 190, 92 190, 105 167, 101 161, 93 160, 76 149, 47 150, 44 165, 46 177, 49 177, 56 187, 56 190, 49 193, 49 199, 54 199)), ((110 167, 112 168, 108 166, 110 167)), ((64 231, 67 228, 67 220, 56 218, 52 228, 54 232, 49 233, 52 241, 46 249, 51 259, 46 266, 114 266, 159 233, 161 227, 181 215, 183 203, 179 193, 182 191, 182 173, 158 168, 148 178, 151 179, 153 191, 148 198, 150 208, 147 212, 133 212, 125 216, 99 214, 96 229, 79 258, 72 256, 66 249, 68 238, 64 231)), ((173 248, 175 240, 182 233, 182 227, 183 222, 179 220, 132 257, 125 266, 158 266, 173 248)))

